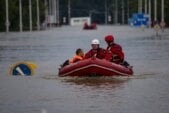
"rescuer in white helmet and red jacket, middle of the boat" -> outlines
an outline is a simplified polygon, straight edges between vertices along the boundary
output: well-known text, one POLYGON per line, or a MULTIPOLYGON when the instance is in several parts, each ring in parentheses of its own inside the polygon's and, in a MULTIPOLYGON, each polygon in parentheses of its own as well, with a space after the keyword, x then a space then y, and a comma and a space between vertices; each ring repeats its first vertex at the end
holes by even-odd
POLYGON ((103 49, 103 48, 100 48, 99 47, 99 40, 98 39, 94 39, 92 40, 91 42, 91 47, 92 49, 89 50, 86 54, 85 54, 85 57, 84 59, 87 59, 87 58, 99 58, 99 59, 104 59, 105 58, 105 55, 106 55, 106 50, 103 49))

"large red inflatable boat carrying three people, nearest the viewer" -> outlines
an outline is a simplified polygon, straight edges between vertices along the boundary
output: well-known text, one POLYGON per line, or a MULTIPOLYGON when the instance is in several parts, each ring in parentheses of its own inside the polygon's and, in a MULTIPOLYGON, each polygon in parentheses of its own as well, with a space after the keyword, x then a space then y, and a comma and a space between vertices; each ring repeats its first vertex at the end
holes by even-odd
POLYGON ((89 58, 77 63, 64 66, 59 69, 59 76, 131 76, 132 68, 127 68, 119 64, 111 63, 106 60, 89 58))

